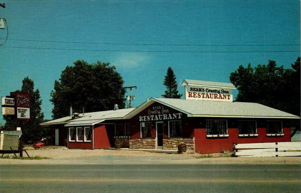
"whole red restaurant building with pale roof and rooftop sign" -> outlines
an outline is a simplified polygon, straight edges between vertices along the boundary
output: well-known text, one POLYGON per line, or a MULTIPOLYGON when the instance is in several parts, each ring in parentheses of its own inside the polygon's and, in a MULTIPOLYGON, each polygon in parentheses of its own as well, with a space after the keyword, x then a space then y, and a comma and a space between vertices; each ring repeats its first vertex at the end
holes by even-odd
POLYGON ((136 108, 73 114, 50 125, 53 144, 68 148, 127 147, 198 153, 233 151, 233 143, 290 141, 299 116, 259 103, 233 102, 231 83, 185 79, 185 99, 149 98, 136 108))

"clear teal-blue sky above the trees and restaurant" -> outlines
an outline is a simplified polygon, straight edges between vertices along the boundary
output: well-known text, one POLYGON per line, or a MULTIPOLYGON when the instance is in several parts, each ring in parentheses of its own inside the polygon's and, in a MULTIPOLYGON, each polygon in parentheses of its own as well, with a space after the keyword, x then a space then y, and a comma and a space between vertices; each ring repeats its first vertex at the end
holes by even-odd
MULTIPOLYGON (((179 83, 185 78, 230 82, 230 73, 240 64, 255 66, 273 59, 289 68, 300 55, 299 45, 282 45, 300 44, 299 0, 2 0, 1 3, 7 6, 0 7, 0 17, 7 19, 9 39, 0 46, 0 95, 20 89, 22 79, 29 76, 35 89, 41 92, 45 118, 52 115, 49 99, 54 81, 67 65, 78 59, 115 65, 124 86, 138 87, 134 90, 134 106, 137 106, 148 97, 161 97, 169 66, 179 83)), ((0 29, 0 37, 5 38, 6 32, 0 29)), ((0 44, 3 42, 0 39, 0 44)), ((184 88, 179 86, 179 90, 183 93, 184 88)))

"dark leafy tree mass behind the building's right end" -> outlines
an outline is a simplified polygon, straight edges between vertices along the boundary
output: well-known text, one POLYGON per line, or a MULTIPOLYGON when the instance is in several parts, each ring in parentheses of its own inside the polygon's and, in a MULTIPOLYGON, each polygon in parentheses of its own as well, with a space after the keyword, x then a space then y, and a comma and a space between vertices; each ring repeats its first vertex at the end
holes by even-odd
POLYGON ((254 68, 250 63, 239 65, 230 75, 238 89, 236 101, 258 102, 300 116, 300 57, 291 67, 284 69, 273 60, 254 68))

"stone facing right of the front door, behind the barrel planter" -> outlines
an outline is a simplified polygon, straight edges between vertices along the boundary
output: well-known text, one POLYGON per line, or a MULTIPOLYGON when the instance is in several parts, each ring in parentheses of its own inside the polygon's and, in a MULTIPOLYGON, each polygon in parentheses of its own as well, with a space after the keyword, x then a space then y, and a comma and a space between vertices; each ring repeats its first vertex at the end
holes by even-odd
POLYGON ((174 149, 178 150, 178 144, 180 142, 185 142, 187 145, 187 150, 194 149, 194 137, 190 138, 163 138, 163 149, 174 149))

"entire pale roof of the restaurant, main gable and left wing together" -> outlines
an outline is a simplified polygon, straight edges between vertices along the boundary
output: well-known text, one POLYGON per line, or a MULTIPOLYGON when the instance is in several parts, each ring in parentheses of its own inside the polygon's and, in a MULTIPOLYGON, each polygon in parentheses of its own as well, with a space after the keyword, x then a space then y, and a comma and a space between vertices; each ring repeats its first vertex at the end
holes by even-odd
POLYGON ((80 118, 72 119, 72 116, 66 116, 43 122, 41 125, 65 124, 64 126, 83 126, 94 125, 110 119, 129 119, 154 102, 160 102, 186 113, 188 117, 300 118, 299 116, 253 102, 149 98, 136 108, 81 113, 79 114, 80 118))

